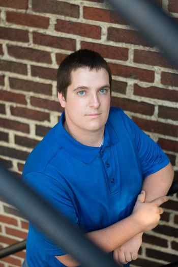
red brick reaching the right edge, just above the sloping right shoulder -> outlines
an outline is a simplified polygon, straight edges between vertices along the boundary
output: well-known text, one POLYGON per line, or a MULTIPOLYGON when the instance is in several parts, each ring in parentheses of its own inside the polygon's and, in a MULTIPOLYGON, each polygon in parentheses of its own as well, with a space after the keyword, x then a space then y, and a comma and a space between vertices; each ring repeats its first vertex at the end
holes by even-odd
MULTIPOLYGON (((140 109, 141 110, 141 109, 140 109)), ((142 110, 141 110, 142 113, 142 110)), ((161 123, 157 121, 144 120, 138 117, 132 117, 133 121, 144 131, 149 131, 152 133, 160 133, 164 135, 177 136, 178 126, 170 125, 166 123, 161 123)))

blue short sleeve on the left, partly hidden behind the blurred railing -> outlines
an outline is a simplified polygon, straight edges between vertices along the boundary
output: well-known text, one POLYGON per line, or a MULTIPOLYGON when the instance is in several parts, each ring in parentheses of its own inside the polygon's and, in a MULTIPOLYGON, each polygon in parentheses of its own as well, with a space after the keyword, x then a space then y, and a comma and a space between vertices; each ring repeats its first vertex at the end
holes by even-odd
MULTIPOLYGON (((23 174, 23 180, 65 215, 73 224, 78 224, 78 217, 72 199, 63 185, 63 181, 60 181, 60 176, 52 177, 40 172, 30 172, 23 174)), ((36 231, 36 235, 38 235, 38 231, 36 231)), ((45 244, 43 244, 43 247, 48 255, 61 256, 66 254, 66 252, 56 247, 40 232, 39 236, 37 236, 37 241, 38 238, 40 240, 40 236, 44 239, 45 244)))

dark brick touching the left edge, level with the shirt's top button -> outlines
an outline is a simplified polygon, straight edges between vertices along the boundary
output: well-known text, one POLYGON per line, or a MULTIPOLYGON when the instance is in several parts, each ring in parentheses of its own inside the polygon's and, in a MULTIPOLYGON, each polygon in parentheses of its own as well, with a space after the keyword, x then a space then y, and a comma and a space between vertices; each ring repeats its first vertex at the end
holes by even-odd
POLYGON ((1 155, 19 160, 26 160, 28 152, 12 149, 11 147, 0 145, 1 155))

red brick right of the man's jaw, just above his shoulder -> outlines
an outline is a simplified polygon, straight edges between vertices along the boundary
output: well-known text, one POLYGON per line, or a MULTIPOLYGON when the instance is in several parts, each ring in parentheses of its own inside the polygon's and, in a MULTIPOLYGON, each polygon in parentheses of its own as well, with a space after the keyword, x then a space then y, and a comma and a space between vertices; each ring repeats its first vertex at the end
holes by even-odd
POLYGON ((145 115, 153 115, 155 109, 154 105, 121 97, 112 97, 111 105, 136 113, 140 113, 141 111, 141 113, 145 115))

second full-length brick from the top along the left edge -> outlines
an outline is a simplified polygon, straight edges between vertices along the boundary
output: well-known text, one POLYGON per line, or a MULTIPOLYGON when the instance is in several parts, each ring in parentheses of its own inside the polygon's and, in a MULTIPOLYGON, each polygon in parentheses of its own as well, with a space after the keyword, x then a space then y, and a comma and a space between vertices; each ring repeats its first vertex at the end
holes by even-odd
POLYGON ((23 29, 14 29, 9 27, 0 27, 0 39, 18 41, 23 43, 29 42, 27 31, 23 31, 23 29))

